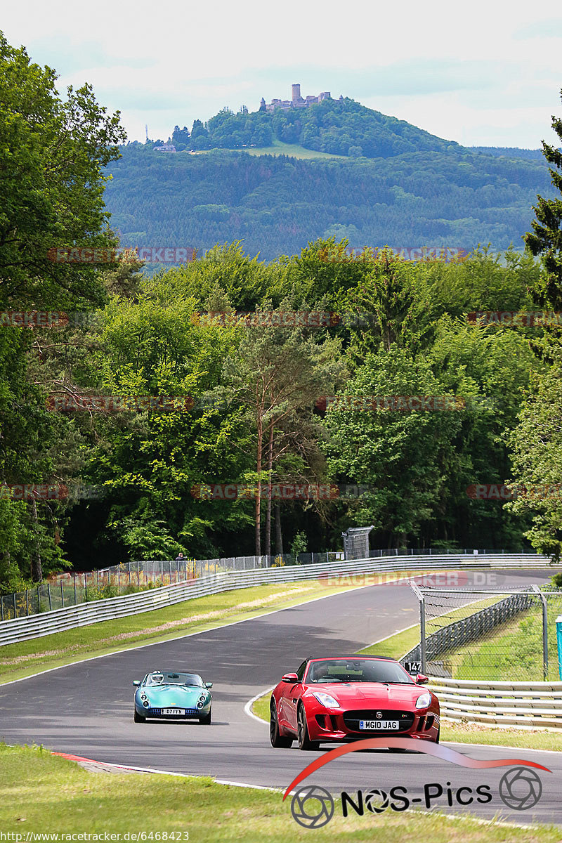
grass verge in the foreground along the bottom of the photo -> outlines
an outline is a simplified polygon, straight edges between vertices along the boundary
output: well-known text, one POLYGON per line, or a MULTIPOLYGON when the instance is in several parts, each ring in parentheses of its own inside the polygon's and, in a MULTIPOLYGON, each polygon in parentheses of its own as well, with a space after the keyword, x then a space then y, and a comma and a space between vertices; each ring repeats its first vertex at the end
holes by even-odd
MULTIPOLYGON (((309 840, 311 834, 292 819, 290 798, 282 802, 281 792, 228 787, 209 778, 88 772, 41 747, 5 744, 0 744, 0 829, 21 835, 13 840, 25 840, 26 835, 33 833, 84 832, 144 832, 144 840, 162 840, 166 832, 170 840, 174 832, 175 840, 196 843, 286 843, 288 839, 309 840)), ((432 843, 560 840, 559 829, 554 826, 520 829, 415 811, 344 819, 338 802, 329 824, 313 832, 314 840, 343 843, 371 841, 373 834, 377 843, 419 843, 425 839, 432 843)))

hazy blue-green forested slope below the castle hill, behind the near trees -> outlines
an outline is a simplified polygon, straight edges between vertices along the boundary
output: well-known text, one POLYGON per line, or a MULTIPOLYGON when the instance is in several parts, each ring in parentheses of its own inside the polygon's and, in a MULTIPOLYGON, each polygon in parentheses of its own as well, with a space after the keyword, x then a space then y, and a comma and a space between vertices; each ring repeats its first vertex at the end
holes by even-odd
POLYGON ((376 160, 166 154, 139 143, 121 152, 105 201, 122 243, 199 254, 242 240, 272 260, 331 234, 352 246, 521 248, 537 193, 551 191, 542 162, 463 148, 376 160))

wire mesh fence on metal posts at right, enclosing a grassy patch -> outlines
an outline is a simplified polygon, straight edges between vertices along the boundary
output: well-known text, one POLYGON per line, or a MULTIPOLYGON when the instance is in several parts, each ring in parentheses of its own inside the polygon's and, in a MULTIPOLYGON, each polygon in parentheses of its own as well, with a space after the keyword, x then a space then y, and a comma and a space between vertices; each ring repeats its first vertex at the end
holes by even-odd
POLYGON ((562 678, 556 618, 562 589, 423 588, 420 644, 402 661, 452 679, 556 681, 562 678))

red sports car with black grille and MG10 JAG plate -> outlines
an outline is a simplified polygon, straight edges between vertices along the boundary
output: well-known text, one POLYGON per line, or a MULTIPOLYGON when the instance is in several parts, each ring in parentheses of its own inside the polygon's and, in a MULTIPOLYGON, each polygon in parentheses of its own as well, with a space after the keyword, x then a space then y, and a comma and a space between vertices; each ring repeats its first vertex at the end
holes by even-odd
POLYGON ((289 747, 297 739, 299 749, 318 749, 324 741, 375 735, 438 744, 439 701, 420 688, 425 682, 426 676, 412 679, 393 658, 307 658, 273 690, 271 745, 289 747))

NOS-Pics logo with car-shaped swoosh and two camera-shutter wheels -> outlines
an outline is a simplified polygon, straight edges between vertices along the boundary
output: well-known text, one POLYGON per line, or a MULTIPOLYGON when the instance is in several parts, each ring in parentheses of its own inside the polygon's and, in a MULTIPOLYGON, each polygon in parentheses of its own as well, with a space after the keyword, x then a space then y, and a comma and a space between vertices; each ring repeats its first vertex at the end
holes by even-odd
MULTIPOLYGON (((428 744, 424 747, 420 746, 420 743, 413 738, 402 738, 399 741, 399 745, 404 749, 415 749, 418 753, 435 755, 453 764, 471 769, 511 767, 500 779, 498 794, 502 803, 514 811, 526 811, 533 808, 542 796, 543 783, 533 768, 551 772, 548 767, 536 764, 534 761, 515 758, 477 761, 440 744, 428 744)), ((309 764, 287 787, 283 799, 303 779, 342 754, 356 752, 358 749, 389 749, 396 744, 396 738, 368 738, 357 741, 355 744, 333 749, 309 764)), ((397 786, 391 787, 388 792, 377 788, 369 791, 358 790, 354 794, 342 791, 340 797, 342 815, 347 817, 350 813, 363 816, 366 811, 377 814, 383 813, 387 809, 400 812, 416 805, 420 808, 429 809, 439 806, 444 807, 445 805, 452 808, 456 805, 466 807, 473 803, 486 804, 492 801, 493 795, 492 788, 486 784, 479 784, 477 787, 453 788, 450 781, 447 781, 445 785, 433 781, 424 785, 423 796, 411 796, 407 787, 397 786)), ((328 824, 334 816, 334 798, 324 787, 305 785, 299 787, 293 793, 291 812, 293 819, 303 828, 319 829, 328 824)))

